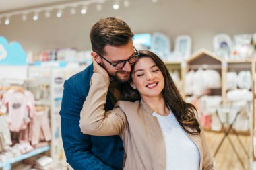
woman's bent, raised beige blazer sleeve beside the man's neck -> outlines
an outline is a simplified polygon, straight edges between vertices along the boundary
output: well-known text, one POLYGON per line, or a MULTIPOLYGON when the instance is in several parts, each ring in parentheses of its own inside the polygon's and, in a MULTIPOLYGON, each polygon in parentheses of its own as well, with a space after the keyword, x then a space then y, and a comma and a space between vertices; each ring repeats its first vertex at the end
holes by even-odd
POLYGON ((125 113, 119 106, 106 112, 104 105, 109 87, 109 79, 94 73, 90 90, 80 112, 80 128, 82 133, 96 136, 121 136, 127 126, 125 113))

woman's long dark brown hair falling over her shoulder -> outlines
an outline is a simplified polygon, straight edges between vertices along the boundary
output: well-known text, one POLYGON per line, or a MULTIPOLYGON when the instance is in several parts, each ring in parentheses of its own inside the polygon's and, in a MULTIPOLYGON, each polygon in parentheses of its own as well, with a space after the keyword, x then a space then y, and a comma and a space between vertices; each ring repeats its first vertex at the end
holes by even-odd
MULTIPOLYGON (((166 105, 170 110, 172 110, 174 116, 177 118, 179 124, 183 127, 185 132, 189 134, 200 134, 201 130, 199 128, 199 122, 195 118, 194 110, 195 106, 191 103, 186 103, 183 98, 181 97, 181 94, 179 93, 177 87, 174 84, 174 81, 170 77, 170 73, 168 72, 168 69, 166 68, 166 65, 164 65, 164 62, 153 52, 150 52, 148 50, 140 50, 139 51, 140 56, 142 57, 148 57, 152 58, 154 62, 156 63, 157 67, 162 72, 162 75, 164 76, 164 89, 162 90, 162 94, 164 95, 164 101, 166 102, 166 105), (191 132, 187 130, 185 127, 189 127, 191 129, 196 129, 197 132, 191 132)), ((136 63, 135 63, 136 65, 136 63)), ((134 65, 132 67, 133 71, 134 65)), ((134 90, 131 88, 130 83, 132 81, 132 78, 129 82, 124 83, 123 89, 123 100, 127 101, 137 101, 141 99, 141 96, 139 95, 139 91, 134 90)))

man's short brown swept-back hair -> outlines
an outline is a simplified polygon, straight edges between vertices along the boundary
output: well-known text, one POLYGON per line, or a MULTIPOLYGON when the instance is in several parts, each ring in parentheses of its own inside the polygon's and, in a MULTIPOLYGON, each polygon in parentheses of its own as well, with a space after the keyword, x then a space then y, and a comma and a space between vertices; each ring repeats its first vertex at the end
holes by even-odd
POLYGON ((117 17, 100 19, 90 31, 92 50, 104 55, 104 48, 110 46, 123 46, 133 37, 131 28, 117 17))

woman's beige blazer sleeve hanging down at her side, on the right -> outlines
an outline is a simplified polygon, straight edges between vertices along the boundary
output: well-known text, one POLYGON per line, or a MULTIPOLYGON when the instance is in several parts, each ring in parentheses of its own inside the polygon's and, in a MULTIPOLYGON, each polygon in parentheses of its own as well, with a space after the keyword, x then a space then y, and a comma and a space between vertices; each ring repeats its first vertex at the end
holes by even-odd
POLYGON ((198 114, 197 114, 196 110, 194 110, 194 113, 195 113, 195 117, 197 118, 197 121, 200 124, 200 129, 201 129, 200 138, 201 138, 202 148, 203 148, 203 170, 216 170, 214 157, 212 157, 210 148, 207 144, 205 134, 204 134, 204 130, 203 130, 203 126, 201 126, 201 123, 199 121, 199 117, 198 117, 198 114))

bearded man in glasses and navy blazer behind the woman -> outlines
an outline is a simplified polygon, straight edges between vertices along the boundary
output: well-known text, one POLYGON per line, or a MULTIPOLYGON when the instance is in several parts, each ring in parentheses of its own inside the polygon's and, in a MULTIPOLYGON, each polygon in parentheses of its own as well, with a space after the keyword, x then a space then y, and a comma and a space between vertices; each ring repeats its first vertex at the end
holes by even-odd
MULTIPOLYGON (((120 82, 129 80, 137 50, 131 28, 121 19, 100 19, 90 32, 92 57, 108 71, 111 82, 105 109, 120 99, 120 82)), ((67 163, 75 170, 122 169, 123 143, 119 136, 89 136, 79 128, 80 111, 90 89, 93 65, 65 81, 61 104, 61 134, 67 163)))

